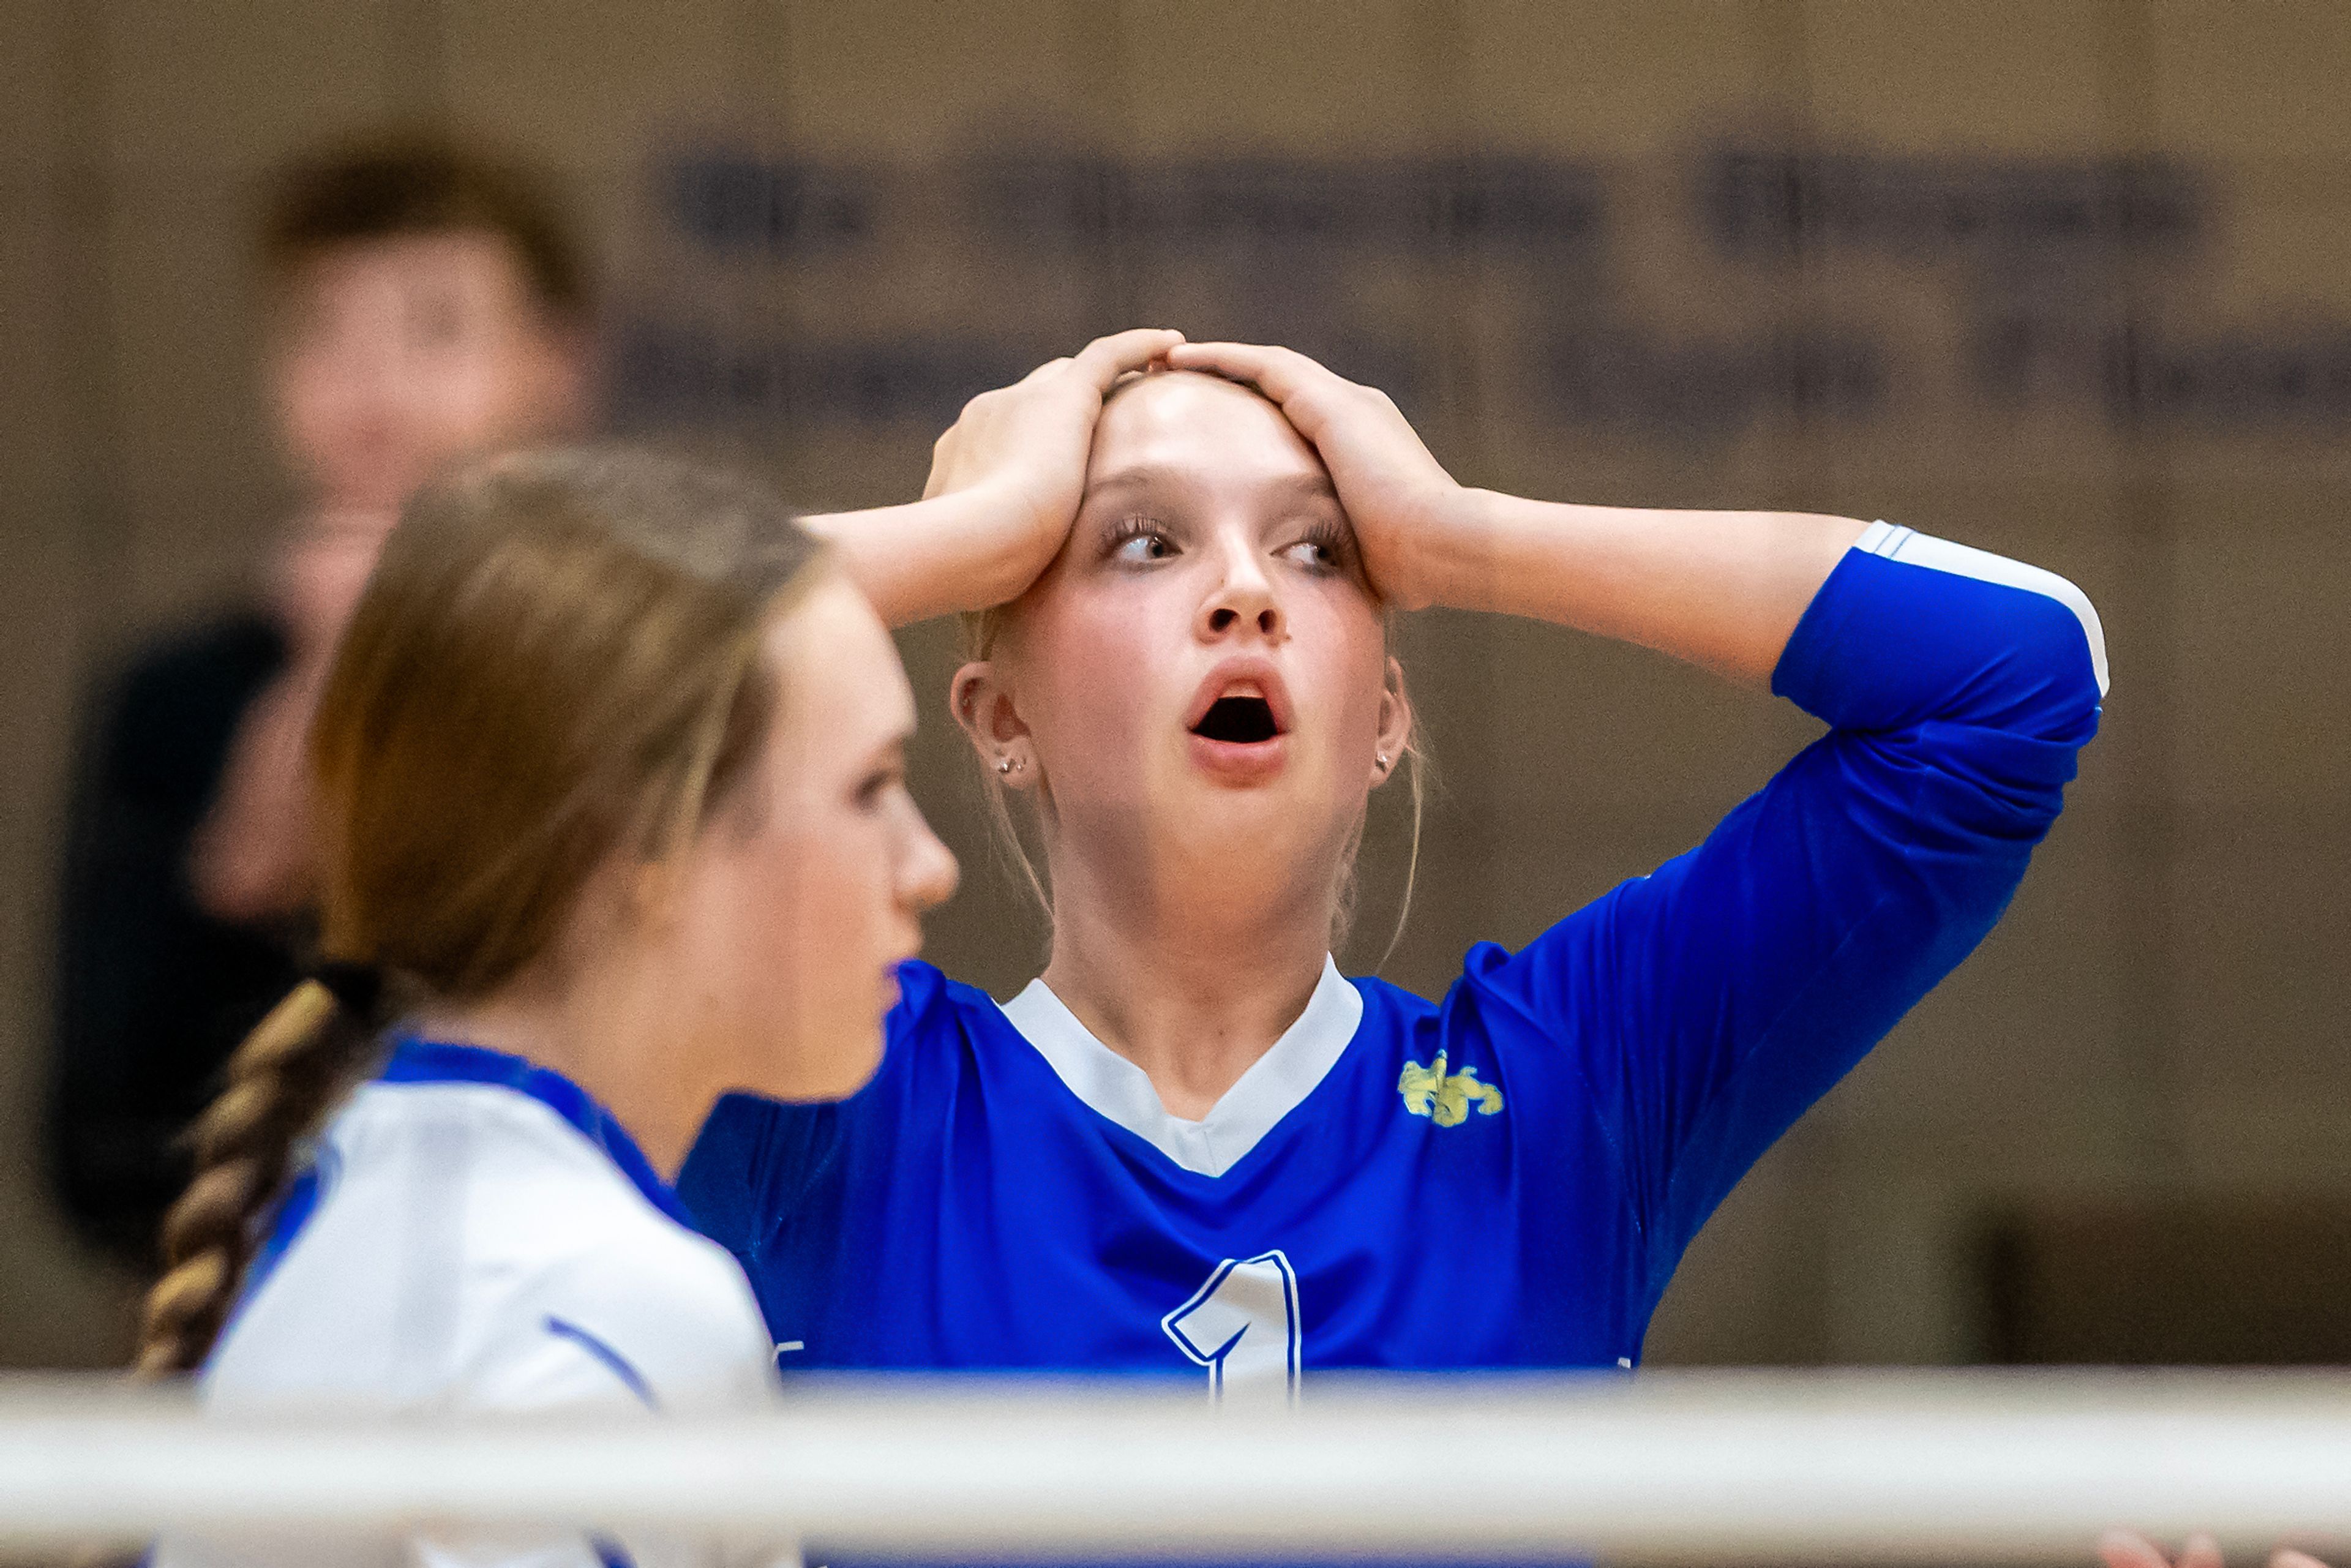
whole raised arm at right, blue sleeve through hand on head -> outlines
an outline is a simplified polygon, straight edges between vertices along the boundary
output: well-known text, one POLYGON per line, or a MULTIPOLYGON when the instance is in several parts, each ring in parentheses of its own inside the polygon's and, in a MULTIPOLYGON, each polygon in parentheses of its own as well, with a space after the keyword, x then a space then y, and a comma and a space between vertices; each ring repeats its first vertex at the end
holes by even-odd
POLYGON ((2106 651, 2059 576, 1883 522, 1634 512, 1458 487, 1385 397, 1286 350, 1199 346, 1314 440, 1373 581, 1643 642, 1829 733, 1697 849, 1516 954, 1469 952, 1455 1027, 1613 1133, 1648 1267, 1984 938, 2097 729, 2106 651))

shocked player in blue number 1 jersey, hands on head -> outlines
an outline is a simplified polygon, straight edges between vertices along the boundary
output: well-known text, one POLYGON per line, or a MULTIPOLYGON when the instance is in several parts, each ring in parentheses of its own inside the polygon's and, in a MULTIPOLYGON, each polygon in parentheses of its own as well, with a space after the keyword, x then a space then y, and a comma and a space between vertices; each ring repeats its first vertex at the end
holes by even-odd
MULTIPOLYGON (((1053 919, 1006 1004, 912 964, 842 1105, 722 1100, 682 1192, 788 1366, 1613 1368, 1759 1154, 2008 905, 2097 729, 2057 576, 1883 522, 1465 489, 1394 404, 1126 334, 820 527, 985 609, 955 708, 1053 919), (1105 402, 1105 393, 1110 393, 1105 402), (1413 719, 1389 607, 1662 649, 1829 724, 1697 849, 1436 1001, 1328 957, 1413 719)), ((1526 726, 1545 715, 1521 715, 1526 726)), ((1533 825, 1528 827, 1533 830, 1533 825)))

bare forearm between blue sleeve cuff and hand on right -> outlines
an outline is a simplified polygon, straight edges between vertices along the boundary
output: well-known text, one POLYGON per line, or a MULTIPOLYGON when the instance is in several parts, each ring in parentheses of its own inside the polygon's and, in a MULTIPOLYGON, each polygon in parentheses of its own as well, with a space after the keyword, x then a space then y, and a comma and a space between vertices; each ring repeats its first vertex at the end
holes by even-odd
POLYGON ((1573 625, 1770 682, 1803 609, 1867 524, 1815 512, 1676 512, 1462 491, 1432 529, 1436 604, 1573 625))

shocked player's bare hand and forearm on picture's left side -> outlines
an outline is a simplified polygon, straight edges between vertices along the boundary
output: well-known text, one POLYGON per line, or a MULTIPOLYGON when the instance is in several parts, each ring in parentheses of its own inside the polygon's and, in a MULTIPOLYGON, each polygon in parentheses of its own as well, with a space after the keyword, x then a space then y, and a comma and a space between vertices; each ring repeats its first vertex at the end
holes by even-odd
POLYGON ((1119 331, 980 393, 938 437, 922 501, 802 524, 832 541, 889 625, 1016 599, 1070 534, 1103 397, 1176 343, 1180 331, 1119 331))

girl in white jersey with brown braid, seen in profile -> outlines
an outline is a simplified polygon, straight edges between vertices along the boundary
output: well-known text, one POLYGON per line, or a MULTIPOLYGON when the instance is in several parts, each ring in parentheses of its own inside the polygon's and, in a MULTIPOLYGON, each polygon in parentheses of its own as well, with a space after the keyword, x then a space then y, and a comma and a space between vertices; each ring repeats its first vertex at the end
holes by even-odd
POLYGON ((752 484, 552 451, 426 491, 310 731, 336 964, 195 1128, 146 1371, 202 1368, 216 1410, 764 1403, 757 1305, 670 1178, 719 1091, 825 1098, 875 1070, 896 966, 955 882, 905 795, 912 722, 875 614, 752 484))

